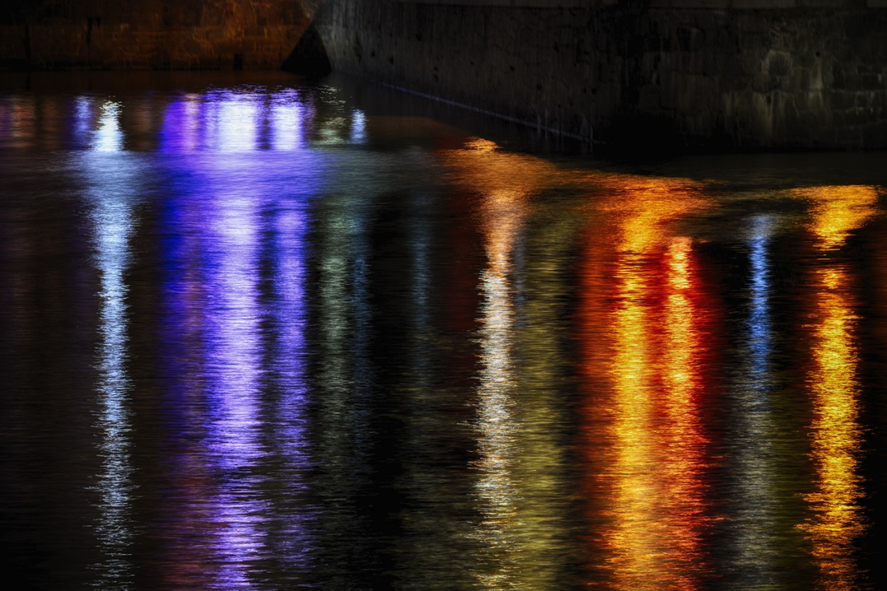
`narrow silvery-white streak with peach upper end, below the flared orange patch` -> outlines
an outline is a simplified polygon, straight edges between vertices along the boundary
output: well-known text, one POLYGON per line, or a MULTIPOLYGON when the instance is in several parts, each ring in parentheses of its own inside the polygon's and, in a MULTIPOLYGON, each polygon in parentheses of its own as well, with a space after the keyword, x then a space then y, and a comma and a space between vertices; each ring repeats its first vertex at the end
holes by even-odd
POLYGON ((477 389, 475 485, 482 518, 476 535, 482 544, 475 567, 484 589, 521 588, 518 485, 514 466, 520 429, 514 416, 517 379, 514 367, 514 290, 512 257, 527 215, 524 195, 490 191, 483 195, 483 232, 487 266, 481 272, 480 384, 477 389))

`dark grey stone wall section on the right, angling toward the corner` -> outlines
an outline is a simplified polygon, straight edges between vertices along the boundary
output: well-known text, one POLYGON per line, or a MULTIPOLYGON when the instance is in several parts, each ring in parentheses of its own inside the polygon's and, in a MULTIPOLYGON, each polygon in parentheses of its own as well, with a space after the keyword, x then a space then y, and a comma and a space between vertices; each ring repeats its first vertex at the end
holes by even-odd
POLYGON ((879 3, 329 0, 317 25, 335 69, 608 145, 885 149, 879 3))

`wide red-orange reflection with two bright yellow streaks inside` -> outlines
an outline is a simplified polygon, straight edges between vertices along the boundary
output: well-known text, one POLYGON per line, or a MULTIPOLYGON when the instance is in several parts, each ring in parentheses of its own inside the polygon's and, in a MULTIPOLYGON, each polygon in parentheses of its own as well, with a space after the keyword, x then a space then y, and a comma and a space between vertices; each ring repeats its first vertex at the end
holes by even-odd
POLYGON ((673 225, 706 202, 698 185, 679 179, 602 181, 612 198, 601 209, 615 219, 608 232, 591 231, 584 270, 585 338, 601 338, 608 348, 599 362, 592 345, 586 366, 589 386, 608 383, 607 390, 588 390, 595 470, 588 490, 603 495, 589 504, 589 519, 599 524, 591 532, 589 583, 701 588, 710 571, 702 537, 712 518, 700 419, 706 343, 694 302, 701 286, 693 241, 673 225), (614 235, 616 258, 607 263, 614 235))

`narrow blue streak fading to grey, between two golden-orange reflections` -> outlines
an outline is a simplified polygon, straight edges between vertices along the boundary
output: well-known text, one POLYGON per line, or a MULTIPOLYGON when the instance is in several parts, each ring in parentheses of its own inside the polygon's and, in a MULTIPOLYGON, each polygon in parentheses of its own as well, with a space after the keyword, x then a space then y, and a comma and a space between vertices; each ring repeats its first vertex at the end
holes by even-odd
POLYGON ((779 343, 773 328, 772 249, 781 223, 777 215, 757 214, 746 221, 743 237, 750 263, 748 304, 727 439, 734 450, 729 523, 735 535, 726 574, 737 589, 781 589, 797 576, 786 560, 801 541, 793 527, 797 474, 787 471, 784 461, 802 450, 773 361, 779 343))

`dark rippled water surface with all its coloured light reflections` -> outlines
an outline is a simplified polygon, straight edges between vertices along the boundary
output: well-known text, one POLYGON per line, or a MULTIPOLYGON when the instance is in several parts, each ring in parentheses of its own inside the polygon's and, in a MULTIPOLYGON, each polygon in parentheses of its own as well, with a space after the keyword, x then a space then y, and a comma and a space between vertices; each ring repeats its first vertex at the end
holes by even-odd
POLYGON ((0 93, 16 588, 877 588, 887 156, 132 80, 0 93))

